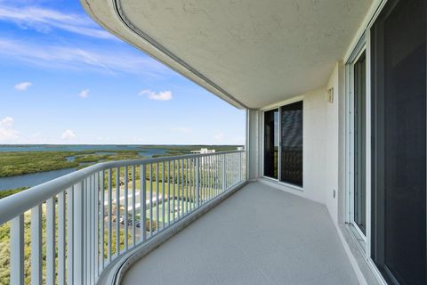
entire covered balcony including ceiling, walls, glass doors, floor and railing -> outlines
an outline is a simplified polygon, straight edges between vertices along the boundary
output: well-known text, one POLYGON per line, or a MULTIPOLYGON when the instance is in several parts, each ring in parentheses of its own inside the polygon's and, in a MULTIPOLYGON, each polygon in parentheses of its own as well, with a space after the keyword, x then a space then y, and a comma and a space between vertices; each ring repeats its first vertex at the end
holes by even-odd
POLYGON ((0 200, 12 284, 427 283, 425 1, 81 2, 246 110, 246 150, 0 200))

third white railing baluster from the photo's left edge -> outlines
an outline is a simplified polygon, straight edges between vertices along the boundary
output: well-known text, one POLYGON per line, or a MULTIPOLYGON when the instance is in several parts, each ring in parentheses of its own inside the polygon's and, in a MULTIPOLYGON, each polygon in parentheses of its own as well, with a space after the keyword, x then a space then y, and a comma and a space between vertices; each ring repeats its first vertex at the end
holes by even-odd
POLYGON ((55 196, 46 201, 46 284, 55 284, 55 196))

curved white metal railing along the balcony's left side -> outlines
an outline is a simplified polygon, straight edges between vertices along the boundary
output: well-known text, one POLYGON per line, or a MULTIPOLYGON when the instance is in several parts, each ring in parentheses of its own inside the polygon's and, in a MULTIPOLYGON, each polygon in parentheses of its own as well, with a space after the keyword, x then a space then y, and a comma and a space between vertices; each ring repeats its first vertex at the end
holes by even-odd
POLYGON ((0 199, 10 283, 96 283, 117 257, 245 180, 245 151, 227 151, 100 163, 0 199))

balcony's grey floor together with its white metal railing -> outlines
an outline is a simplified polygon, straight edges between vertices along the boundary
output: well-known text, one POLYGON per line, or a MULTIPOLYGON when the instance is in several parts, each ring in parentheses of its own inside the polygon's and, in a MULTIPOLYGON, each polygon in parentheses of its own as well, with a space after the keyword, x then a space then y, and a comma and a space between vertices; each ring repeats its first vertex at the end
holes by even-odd
POLYGON ((101 163, 0 211, 12 284, 358 283, 325 206, 246 183, 245 151, 101 163))

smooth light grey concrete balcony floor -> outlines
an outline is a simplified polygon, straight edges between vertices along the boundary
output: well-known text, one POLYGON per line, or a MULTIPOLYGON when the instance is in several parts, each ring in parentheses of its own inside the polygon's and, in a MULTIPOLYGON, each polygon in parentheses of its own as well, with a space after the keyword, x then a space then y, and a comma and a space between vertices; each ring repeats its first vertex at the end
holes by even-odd
POLYGON ((133 265, 122 284, 359 284, 326 207, 248 183, 133 265))

